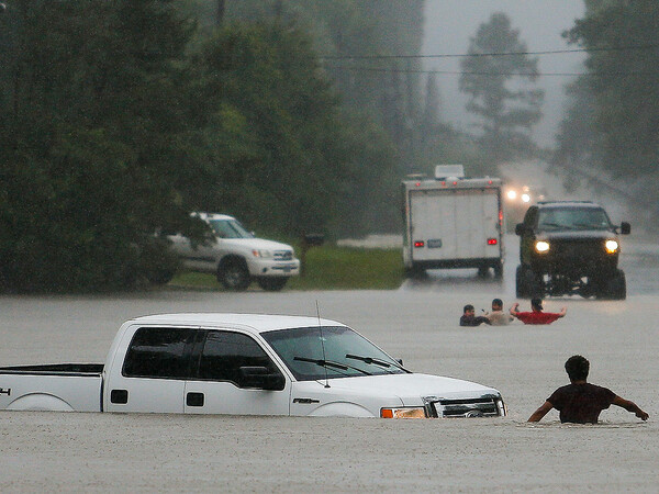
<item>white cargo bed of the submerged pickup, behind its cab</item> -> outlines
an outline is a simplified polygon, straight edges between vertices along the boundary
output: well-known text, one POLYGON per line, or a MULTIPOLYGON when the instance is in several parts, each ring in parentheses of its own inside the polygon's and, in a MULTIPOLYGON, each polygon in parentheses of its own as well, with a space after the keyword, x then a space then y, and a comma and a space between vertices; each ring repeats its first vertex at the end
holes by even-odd
POLYGON ((0 388, 0 402, 9 402, 7 409, 101 412, 102 372, 102 363, 2 367, 0 375, 13 379, 0 388))

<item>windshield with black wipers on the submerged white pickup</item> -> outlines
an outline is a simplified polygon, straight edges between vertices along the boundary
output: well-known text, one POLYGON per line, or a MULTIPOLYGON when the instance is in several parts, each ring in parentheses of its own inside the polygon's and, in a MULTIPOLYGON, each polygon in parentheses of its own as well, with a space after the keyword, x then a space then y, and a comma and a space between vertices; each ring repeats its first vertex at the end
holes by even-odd
POLYGON ((323 380, 325 372, 328 379, 406 372, 400 363, 348 327, 323 326, 322 343, 319 327, 280 329, 261 333, 261 336, 298 381, 323 380))

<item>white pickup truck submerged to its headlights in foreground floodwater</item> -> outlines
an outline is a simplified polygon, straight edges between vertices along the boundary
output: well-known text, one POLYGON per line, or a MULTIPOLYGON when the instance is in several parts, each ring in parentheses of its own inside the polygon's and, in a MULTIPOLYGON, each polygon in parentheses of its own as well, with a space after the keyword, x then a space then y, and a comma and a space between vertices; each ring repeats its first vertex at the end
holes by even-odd
POLYGON ((349 327, 264 314, 165 314, 122 325, 105 364, 0 368, 0 409, 503 416, 499 391, 414 373, 349 327))

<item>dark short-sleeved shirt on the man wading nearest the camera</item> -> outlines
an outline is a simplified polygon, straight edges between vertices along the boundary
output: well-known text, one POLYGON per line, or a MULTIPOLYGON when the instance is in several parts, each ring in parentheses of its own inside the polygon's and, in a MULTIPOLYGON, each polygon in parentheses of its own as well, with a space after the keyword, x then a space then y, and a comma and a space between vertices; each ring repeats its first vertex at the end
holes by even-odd
POLYGON ((614 400, 613 391, 588 382, 559 388, 547 398, 560 412, 560 422, 574 424, 596 424, 614 400))

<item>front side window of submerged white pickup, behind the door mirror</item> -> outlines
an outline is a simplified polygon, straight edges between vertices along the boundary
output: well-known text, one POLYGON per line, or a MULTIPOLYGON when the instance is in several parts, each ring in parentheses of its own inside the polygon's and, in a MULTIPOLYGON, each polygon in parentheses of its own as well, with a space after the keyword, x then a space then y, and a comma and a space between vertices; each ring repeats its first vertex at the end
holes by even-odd
POLYGON ((208 332, 199 361, 199 379, 230 381, 244 388, 248 383, 241 371, 242 367, 265 367, 268 372, 279 372, 275 362, 249 336, 223 330, 208 332))

